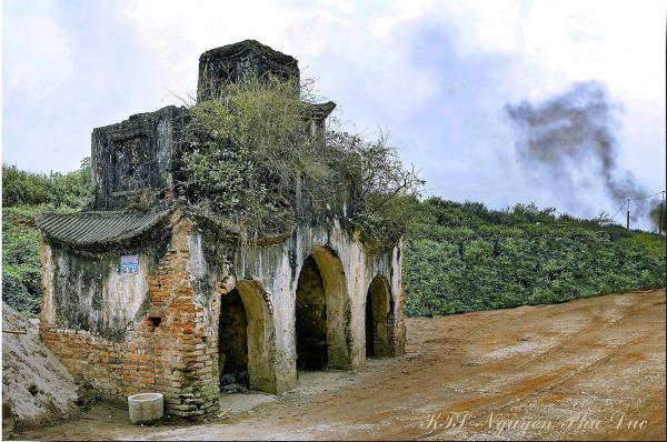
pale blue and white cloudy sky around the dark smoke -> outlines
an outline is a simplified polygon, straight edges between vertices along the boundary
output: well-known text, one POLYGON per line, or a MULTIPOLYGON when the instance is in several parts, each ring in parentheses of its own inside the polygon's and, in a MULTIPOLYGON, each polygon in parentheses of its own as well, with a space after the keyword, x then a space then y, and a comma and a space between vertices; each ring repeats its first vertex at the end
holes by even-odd
POLYGON ((663 190, 665 22, 650 0, 3 0, 2 161, 73 170, 92 128, 181 104, 201 52, 256 39, 299 60, 344 129, 389 133, 426 195, 614 213, 595 164, 563 192, 521 161, 505 109, 604 84, 617 172, 663 190))

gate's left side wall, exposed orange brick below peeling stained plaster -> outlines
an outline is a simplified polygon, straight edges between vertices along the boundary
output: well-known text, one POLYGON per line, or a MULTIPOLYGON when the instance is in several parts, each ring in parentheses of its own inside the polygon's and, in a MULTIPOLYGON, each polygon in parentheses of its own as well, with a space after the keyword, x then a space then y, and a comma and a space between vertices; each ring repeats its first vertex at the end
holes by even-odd
MULTIPOLYGON (((53 253, 54 248, 44 242, 42 264, 50 270, 44 272, 42 280, 44 297, 40 327, 44 343, 68 370, 89 381, 106 396, 123 399, 138 392, 159 391, 165 393, 168 413, 198 415, 215 412, 219 406, 215 366, 217 330, 213 333, 206 318, 208 309, 219 310, 220 297, 202 290, 208 287, 208 275, 198 278, 201 275, 201 251, 193 240, 192 223, 178 214, 175 219, 171 239, 159 261, 151 264, 150 258, 142 254, 147 263, 139 274, 118 277, 126 282, 118 282, 117 277, 110 274, 102 278, 102 287, 116 284, 121 288, 117 293, 119 300, 122 297, 136 299, 146 293, 146 302, 138 309, 131 307, 136 304, 127 307, 126 315, 131 320, 120 341, 104 336, 80 320, 87 318, 83 313, 90 309, 87 303, 87 299, 92 299, 90 288, 97 288, 98 282, 86 279, 80 284, 71 284, 71 299, 59 297, 53 290, 58 278, 79 281, 79 267, 93 263, 90 265, 101 269, 108 262, 96 263, 90 257, 86 261, 66 250, 53 253), (61 263, 58 263, 59 258, 61 263), (72 267, 72 262, 76 265, 72 267), (126 285, 130 287, 129 292, 122 292, 126 285), (70 305, 72 299, 81 300, 80 307, 70 305), (66 314, 59 315, 61 311, 66 314)), ((104 293, 104 289, 101 292, 104 293)))

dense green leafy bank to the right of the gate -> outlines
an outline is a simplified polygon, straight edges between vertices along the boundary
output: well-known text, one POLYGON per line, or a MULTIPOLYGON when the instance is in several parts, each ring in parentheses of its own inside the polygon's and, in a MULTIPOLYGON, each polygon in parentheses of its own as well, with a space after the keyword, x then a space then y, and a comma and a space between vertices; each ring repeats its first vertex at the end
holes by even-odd
POLYGON ((445 314, 664 287, 665 238, 554 209, 431 198, 404 251, 406 312, 445 314))

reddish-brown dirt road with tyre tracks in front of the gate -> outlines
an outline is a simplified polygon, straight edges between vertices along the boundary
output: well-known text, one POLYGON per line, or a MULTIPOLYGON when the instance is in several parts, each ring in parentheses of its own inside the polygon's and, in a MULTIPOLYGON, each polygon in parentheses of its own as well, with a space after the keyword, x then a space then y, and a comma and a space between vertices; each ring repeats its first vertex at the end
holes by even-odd
POLYGON ((232 410, 208 423, 137 428, 98 405, 21 438, 665 440, 664 290, 407 327, 405 356, 302 373, 279 396, 225 398, 232 410))

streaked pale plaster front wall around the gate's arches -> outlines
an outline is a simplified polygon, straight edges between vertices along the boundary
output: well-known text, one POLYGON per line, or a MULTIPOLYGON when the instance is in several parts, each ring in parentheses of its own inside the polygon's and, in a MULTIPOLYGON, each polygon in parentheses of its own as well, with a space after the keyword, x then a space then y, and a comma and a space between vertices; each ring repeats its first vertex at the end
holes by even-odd
POLYGON ((238 279, 257 280, 261 283, 275 307, 275 370, 278 391, 290 389, 297 380, 295 293, 301 267, 310 254, 319 261, 325 290, 328 284, 339 298, 340 311, 330 312, 332 301, 327 300, 327 317, 336 315, 339 321, 336 327, 337 335, 328 336, 328 344, 338 349, 335 351, 338 359, 330 359, 330 366, 356 370, 365 365, 366 298, 370 282, 377 275, 388 281, 394 301, 391 353, 396 355, 405 352, 400 245, 388 252, 371 253, 347 233, 337 219, 328 225, 300 224, 292 237, 282 243, 235 255, 231 271, 238 279), (327 272, 330 274, 326 274, 327 272))

